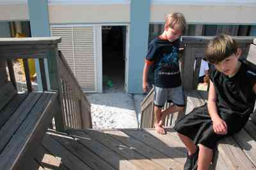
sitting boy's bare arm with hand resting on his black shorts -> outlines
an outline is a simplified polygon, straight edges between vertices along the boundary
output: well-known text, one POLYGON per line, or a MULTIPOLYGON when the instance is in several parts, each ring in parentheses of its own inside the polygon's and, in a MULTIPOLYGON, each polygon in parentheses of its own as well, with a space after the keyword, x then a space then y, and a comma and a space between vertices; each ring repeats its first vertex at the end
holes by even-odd
POLYGON ((207 107, 211 116, 214 132, 216 134, 227 134, 227 124, 225 123, 225 121, 221 120, 218 114, 218 109, 216 106, 216 91, 214 89, 212 81, 210 81, 207 107))

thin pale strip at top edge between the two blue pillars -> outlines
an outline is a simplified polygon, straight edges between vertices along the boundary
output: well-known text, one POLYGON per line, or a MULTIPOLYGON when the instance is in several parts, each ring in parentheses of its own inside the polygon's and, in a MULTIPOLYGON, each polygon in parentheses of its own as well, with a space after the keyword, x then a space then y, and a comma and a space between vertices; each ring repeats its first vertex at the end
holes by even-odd
POLYGON ((48 0, 48 4, 130 4, 131 0, 48 0))

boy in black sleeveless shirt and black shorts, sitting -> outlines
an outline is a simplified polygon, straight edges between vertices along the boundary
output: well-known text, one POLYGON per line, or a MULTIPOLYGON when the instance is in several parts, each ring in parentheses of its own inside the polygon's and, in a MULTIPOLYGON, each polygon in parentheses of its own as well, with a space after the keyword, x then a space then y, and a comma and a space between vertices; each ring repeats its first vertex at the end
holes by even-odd
POLYGON ((241 49, 230 36, 216 36, 207 45, 205 56, 216 68, 210 70, 208 103, 175 125, 188 150, 184 169, 209 169, 216 143, 239 132, 255 104, 256 72, 239 59, 241 49))

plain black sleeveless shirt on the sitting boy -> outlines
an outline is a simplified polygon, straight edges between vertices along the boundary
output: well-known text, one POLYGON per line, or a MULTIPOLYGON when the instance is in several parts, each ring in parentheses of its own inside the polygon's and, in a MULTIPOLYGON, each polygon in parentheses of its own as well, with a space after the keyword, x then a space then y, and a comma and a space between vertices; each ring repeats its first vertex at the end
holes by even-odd
POLYGON ((216 105, 220 114, 250 115, 255 104, 253 86, 256 72, 241 61, 241 67, 234 77, 210 70, 210 79, 217 95, 216 105))

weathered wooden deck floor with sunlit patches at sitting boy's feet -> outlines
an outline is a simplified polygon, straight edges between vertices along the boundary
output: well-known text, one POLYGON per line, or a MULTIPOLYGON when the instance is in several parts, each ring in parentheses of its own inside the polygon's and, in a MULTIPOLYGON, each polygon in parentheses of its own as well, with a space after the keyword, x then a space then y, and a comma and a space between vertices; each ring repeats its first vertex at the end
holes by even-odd
POLYGON ((25 169, 183 169, 184 145, 168 129, 49 130, 25 169))

